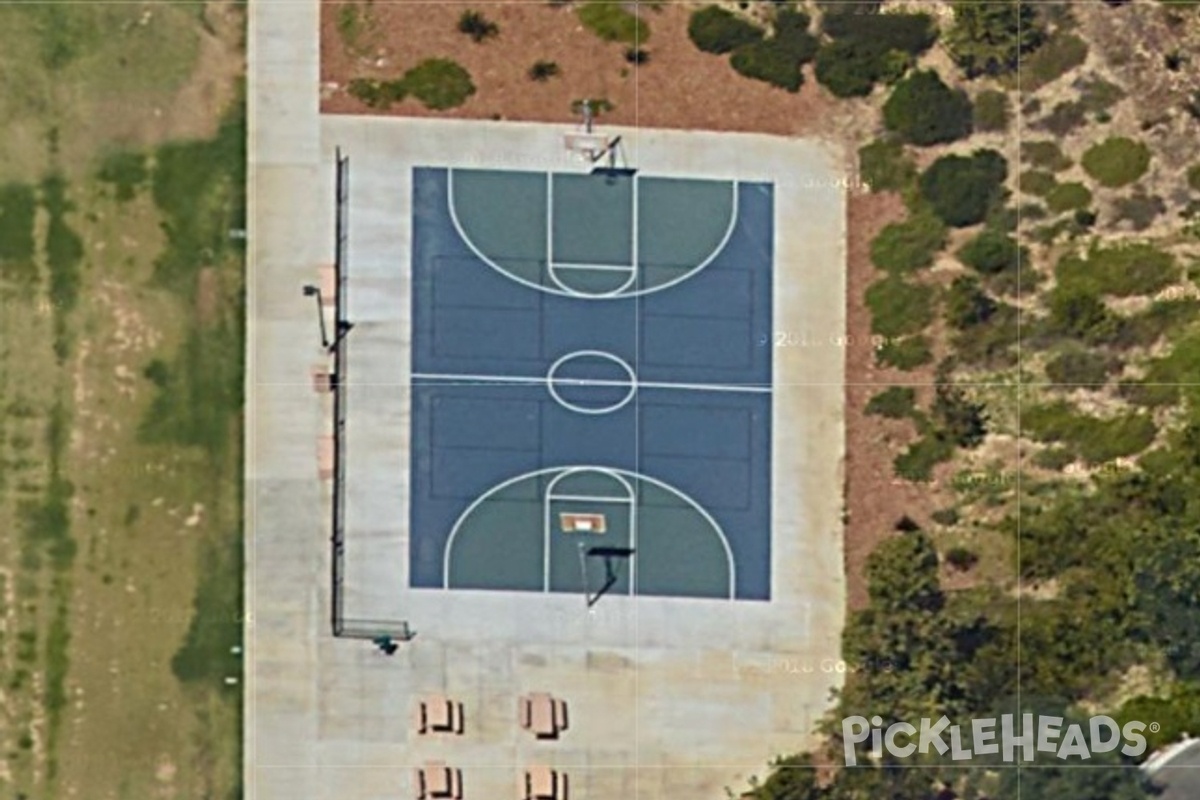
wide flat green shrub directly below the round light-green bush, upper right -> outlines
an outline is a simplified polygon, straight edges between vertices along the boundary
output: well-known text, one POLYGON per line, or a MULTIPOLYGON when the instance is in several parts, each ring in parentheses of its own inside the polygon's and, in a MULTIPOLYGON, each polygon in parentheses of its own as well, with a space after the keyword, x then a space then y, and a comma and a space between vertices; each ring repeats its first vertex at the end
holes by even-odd
POLYGON ((1086 255, 1061 258, 1055 276, 1063 288, 1129 297, 1154 294, 1175 283, 1180 265, 1174 255, 1148 243, 1093 245, 1086 255))

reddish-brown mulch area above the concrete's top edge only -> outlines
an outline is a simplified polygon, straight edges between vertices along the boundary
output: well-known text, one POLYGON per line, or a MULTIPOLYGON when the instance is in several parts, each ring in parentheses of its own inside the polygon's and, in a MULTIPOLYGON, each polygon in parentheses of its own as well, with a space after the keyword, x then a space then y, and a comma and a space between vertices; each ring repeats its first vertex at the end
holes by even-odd
POLYGON ((481 44, 457 30, 458 4, 373 4, 373 34, 361 37, 361 55, 347 53, 337 31, 337 8, 322 7, 322 112, 326 114, 394 114, 458 119, 503 119, 575 124, 572 101, 606 98, 611 125, 698 131, 754 131, 812 134, 836 109, 809 80, 794 95, 746 80, 728 59, 701 53, 688 40, 685 4, 646 11, 650 35, 643 44, 649 61, 625 62, 625 46, 602 42, 584 29, 571 6, 545 2, 474 4, 499 26, 499 36, 481 44), (396 78, 427 58, 452 58, 472 76, 476 92, 461 107, 431 112, 414 100, 388 112, 372 110, 350 97, 352 78, 396 78), (553 61, 559 74, 534 82, 534 61, 553 61), (334 89, 332 84, 337 88, 334 89))

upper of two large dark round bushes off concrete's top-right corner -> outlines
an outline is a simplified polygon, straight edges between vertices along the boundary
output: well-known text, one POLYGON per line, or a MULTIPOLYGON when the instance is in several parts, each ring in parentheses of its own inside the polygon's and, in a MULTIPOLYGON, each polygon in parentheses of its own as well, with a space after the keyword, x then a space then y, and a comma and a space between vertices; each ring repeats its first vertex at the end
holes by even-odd
POLYGON ((971 101, 931 70, 914 72, 896 84, 883 104, 883 124, 920 146, 944 144, 971 133, 971 101))

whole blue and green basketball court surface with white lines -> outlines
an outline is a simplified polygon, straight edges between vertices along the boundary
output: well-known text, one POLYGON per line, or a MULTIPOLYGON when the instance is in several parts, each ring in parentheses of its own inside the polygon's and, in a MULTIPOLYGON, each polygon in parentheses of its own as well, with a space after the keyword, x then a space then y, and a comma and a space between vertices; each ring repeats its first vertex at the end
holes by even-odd
POLYGON ((413 587, 768 600, 772 186, 420 168, 413 209, 413 587))

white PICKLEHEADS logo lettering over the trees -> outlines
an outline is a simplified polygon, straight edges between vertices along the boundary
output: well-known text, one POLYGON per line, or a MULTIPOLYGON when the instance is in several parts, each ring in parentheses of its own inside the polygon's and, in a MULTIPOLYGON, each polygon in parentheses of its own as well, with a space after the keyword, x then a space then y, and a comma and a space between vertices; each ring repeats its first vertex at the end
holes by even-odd
POLYGON ((1073 722, 1064 727, 1063 717, 1033 714, 1021 715, 1019 727, 1012 714, 971 720, 965 728, 950 724, 944 716, 936 721, 922 720, 919 726, 907 722, 895 722, 887 728, 882 726, 883 720, 877 716, 870 720, 852 716, 841 721, 847 766, 858 763, 856 745, 868 740, 874 758, 882 758, 884 752, 895 758, 908 758, 916 753, 929 753, 932 748, 940 756, 949 752, 954 760, 1001 756, 1006 762, 1014 762, 1018 751, 1026 762, 1032 762, 1038 752, 1054 753, 1061 759, 1088 759, 1093 753, 1111 752, 1122 744, 1121 752, 1133 757, 1146 752, 1146 738, 1141 732, 1158 729, 1157 723, 1147 726, 1136 721, 1122 727, 1108 716, 1094 716, 1086 723, 1073 722))

